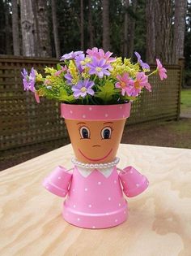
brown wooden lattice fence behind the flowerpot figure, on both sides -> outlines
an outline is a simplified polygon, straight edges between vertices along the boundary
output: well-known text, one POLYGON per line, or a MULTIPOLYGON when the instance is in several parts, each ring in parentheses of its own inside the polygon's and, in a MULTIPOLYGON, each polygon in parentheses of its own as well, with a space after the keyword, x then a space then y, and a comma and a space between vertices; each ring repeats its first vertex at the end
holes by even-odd
MULTIPOLYGON (((23 67, 41 70, 57 59, 0 56, 0 159, 30 150, 53 149, 64 145, 68 135, 56 102, 42 99, 37 104, 32 93, 23 92, 23 67)), ((143 92, 133 103, 127 125, 156 119, 178 119, 180 114, 180 66, 168 66, 168 79, 150 79, 152 93, 143 92)))

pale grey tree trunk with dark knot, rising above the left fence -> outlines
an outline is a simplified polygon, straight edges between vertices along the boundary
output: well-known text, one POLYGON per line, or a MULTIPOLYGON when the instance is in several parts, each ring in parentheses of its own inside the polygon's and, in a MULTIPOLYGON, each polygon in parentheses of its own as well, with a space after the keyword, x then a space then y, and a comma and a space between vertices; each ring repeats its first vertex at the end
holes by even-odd
POLYGON ((20 0, 20 20, 23 40, 23 55, 35 56, 35 24, 32 0, 20 0))

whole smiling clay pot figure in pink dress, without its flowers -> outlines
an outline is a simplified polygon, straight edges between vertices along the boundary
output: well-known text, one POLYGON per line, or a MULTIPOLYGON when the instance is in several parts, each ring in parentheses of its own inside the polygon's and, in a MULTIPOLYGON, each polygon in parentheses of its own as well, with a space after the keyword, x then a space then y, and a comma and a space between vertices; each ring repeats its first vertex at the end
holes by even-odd
POLYGON ((62 215, 81 228, 110 228, 128 216, 125 197, 134 197, 148 186, 145 176, 125 167, 119 173, 116 157, 130 114, 130 103, 117 105, 61 105, 75 158, 72 173, 57 167, 44 186, 66 197, 62 215))

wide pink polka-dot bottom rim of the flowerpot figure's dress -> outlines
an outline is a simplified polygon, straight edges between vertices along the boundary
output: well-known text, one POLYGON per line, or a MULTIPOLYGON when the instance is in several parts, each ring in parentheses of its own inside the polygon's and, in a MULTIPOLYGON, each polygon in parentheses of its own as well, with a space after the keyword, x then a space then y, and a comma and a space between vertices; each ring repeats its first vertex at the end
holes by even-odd
POLYGON ((87 214, 79 211, 75 211, 63 203, 62 216, 68 222, 79 228, 112 228, 115 227, 127 219, 128 208, 127 202, 125 206, 120 210, 101 213, 101 214, 87 214))

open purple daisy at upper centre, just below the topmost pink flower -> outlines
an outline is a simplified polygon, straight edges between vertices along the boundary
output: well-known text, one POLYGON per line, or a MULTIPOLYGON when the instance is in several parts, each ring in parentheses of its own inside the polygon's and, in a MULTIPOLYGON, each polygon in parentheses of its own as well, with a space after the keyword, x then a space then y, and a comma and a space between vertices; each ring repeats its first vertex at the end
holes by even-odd
POLYGON ((111 65, 106 63, 105 59, 97 59, 92 57, 92 62, 87 63, 87 67, 90 67, 89 74, 96 74, 100 78, 103 78, 104 75, 110 76, 110 72, 108 69, 111 69, 111 65))

